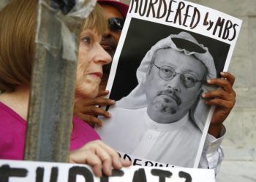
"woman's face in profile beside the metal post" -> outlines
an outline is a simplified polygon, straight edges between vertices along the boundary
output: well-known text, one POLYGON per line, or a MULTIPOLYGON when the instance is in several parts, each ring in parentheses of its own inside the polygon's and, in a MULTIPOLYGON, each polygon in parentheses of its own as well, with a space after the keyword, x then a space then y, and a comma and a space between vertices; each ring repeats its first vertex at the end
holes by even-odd
POLYGON ((95 30, 80 33, 78 70, 75 86, 76 98, 95 98, 102 78, 102 66, 111 62, 108 52, 99 42, 102 36, 95 30))

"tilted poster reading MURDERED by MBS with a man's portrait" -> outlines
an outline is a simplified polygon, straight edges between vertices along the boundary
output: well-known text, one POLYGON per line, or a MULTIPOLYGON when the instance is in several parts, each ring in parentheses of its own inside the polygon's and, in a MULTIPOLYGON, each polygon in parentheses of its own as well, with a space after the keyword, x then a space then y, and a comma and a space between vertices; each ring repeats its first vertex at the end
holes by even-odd
POLYGON ((189 1, 132 0, 102 140, 136 159, 198 167, 214 111, 201 95, 214 89, 206 79, 227 71, 240 28, 236 17, 189 1))

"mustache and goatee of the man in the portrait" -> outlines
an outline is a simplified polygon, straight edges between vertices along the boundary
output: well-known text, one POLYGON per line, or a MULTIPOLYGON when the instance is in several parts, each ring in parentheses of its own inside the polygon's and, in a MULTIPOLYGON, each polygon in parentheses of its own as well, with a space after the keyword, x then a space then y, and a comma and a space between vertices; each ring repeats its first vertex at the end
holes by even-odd
POLYGON ((180 105, 181 99, 171 90, 157 92, 157 97, 152 102, 153 108, 163 114, 176 114, 180 105))

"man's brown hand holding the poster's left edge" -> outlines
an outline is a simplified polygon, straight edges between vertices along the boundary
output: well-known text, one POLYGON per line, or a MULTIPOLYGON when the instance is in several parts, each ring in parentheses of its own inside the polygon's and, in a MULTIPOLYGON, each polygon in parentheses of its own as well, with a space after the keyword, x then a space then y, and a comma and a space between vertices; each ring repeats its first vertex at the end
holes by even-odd
POLYGON ((99 91, 97 98, 82 98, 78 100, 74 104, 74 115, 78 116, 92 127, 94 124, 101 126, 102 122, 97 118, 97 116, 110 117, 111 114, 108 111, 99 108, 98 106, 108 106, 115 104, 115 100, 102 98, 102 96, 105 95, 108 95, 108 91, 102 90, 99 91))

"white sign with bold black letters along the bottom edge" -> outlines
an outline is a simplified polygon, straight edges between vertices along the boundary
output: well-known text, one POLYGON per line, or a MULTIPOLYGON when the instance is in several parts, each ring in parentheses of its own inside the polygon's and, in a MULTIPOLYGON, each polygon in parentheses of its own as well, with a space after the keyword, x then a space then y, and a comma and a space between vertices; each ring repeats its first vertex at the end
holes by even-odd
POLYGON ((214 170, 129 167, 98 178, 89 165, 0 159, 1 182, 214 182, 214 170))

